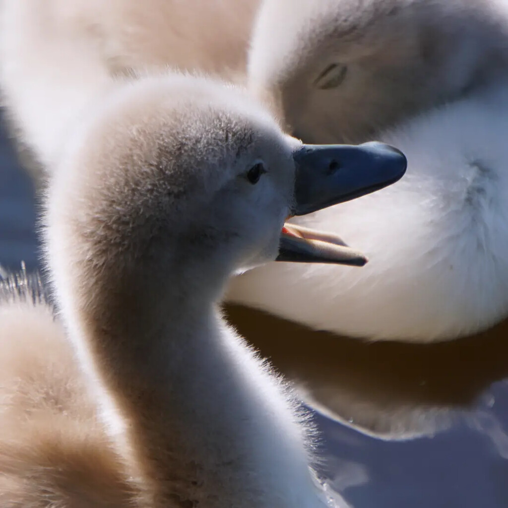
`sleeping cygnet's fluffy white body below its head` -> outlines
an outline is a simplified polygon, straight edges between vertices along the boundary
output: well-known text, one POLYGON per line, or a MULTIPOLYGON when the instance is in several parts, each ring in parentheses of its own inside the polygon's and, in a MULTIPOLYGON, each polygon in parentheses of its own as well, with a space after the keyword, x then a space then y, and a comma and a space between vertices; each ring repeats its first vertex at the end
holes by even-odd
POLYGON ((500 84, 388 131, 383 140, 408 158, 403 180, 297 220, 340 230, 369 257, 365 268, 269 265, 236 278, 230 298, 369 339, 449 339, 503 319, 507 117, 500 84))

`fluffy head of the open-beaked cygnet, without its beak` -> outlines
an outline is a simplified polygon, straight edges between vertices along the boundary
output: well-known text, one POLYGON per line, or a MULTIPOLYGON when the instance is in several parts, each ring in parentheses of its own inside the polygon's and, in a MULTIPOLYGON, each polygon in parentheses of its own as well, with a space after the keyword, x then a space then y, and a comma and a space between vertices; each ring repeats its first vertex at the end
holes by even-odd
POLYGON ((217 273, 274 259, 296 144, 234 89, 140 81, 106 103, 68 151, 49 200, 50 233, 79 235, 93 263, 114 260, 133 273, 140 263, 155 273, 185 265, 201 282, 201 261, 217 273), (62 210, 73 220, 64 223, 62 210))

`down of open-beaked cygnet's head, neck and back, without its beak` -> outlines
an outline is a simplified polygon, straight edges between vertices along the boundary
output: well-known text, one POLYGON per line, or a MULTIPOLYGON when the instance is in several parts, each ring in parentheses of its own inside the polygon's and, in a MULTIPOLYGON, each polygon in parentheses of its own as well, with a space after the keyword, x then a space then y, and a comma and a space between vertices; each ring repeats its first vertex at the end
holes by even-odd
POLYGON ((112 83, 68 139, 45 218, 63 328, 2 306, 4 505, 323 506, 301 408, 217 306, 276 257, 299 142, 179 75, 112 83))

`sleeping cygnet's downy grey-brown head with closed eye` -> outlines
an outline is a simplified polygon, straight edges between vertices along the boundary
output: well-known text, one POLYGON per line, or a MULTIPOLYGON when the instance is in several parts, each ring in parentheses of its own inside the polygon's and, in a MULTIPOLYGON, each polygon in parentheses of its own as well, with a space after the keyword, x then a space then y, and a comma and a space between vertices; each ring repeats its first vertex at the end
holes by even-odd
POLYGON ((249 83, 305 142, 363 142, 500 72, 506 14, 496 0, 265 0, 249 83))

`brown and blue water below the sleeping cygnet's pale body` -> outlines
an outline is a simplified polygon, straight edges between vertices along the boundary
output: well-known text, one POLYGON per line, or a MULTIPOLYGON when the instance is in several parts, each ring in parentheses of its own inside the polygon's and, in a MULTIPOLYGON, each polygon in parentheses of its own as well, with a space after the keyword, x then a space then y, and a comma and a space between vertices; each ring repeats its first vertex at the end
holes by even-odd
POLYGON ((324 415, 327 474, 354 506, 508 507, 508 321, 418 345, 227 311, 324 415))

